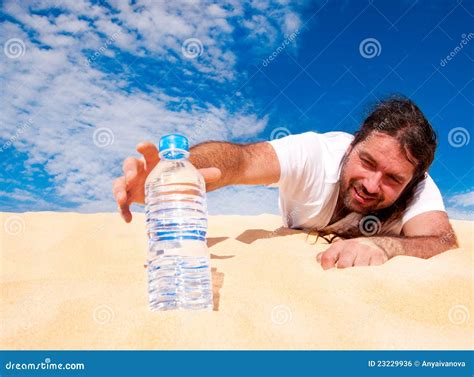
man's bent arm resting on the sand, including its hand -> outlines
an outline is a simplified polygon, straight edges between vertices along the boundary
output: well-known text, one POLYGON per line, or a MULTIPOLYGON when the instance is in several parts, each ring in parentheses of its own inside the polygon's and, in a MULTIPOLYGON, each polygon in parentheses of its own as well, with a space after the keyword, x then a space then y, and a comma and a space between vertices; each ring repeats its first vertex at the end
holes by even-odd
POLYGON ((324 269, 373 266, 398 255, 431 258, 458 247, 456 235, 443 211, 415 216, 403 227, 401 237, 359 237, 338 241, 317 259, 324 269))

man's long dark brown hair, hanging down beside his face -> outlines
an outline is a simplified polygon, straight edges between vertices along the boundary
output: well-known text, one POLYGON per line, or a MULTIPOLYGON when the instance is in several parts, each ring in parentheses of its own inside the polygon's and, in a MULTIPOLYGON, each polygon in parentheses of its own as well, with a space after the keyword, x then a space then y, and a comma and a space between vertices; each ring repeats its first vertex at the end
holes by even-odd
MULTIPOLYGON (((379 230, 383 230, 387 228, 384 225, 389 225, 399 219, 413 200, 417 185, 426 177, 426 172, 434 160, 437 139, 433 128, 418 106, 401 95, 392 95, 375 104, 360 130, 355 133, 351 146, 354 147, 367 140, 373 136, 374 132, 395 138, 402 153, 414 166, 413 177, 398 199, 390 207, 372 214, 380 221, 379 230)), ((346 158, 347 156, 344 160, 346 158)), ((359 237, 363 235, 361 224, 359 224, 360 218, 361 216, 357 224, 346 222, 339 229, 328 226, 317 230, 317 233, 328 241, 332 241, 335 237, 359 237), (325 236, 329 234, 333 234, 334 237, 326 238, 325 236)))

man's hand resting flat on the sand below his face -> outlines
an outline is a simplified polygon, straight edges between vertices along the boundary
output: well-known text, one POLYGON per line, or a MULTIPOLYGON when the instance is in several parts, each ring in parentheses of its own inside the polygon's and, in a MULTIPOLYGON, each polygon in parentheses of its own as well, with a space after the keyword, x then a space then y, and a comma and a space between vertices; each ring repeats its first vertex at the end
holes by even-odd
POLYGON ((336 241, 326 251, 316 256, 325 270, 333 267, 377 266, 390 258, 384 249, 368 238, 336 241))

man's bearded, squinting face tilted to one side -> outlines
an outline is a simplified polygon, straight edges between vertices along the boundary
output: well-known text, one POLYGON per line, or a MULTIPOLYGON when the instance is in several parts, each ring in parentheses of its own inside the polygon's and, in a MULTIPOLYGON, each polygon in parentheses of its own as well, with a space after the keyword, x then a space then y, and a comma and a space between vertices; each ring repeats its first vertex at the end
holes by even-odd
POLYGON ((354 146, 341 170, 340 194, 350 211, 370 213, 392 205, 413 177, 414 166, 396 139, 373 132, 354 146))

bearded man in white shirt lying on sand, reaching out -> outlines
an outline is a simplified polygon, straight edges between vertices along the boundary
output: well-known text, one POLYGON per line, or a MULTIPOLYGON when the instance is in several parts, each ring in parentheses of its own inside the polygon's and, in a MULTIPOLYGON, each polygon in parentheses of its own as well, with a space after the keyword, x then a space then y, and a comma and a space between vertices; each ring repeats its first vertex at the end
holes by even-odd
MULTIPOLYGON (((441 194, 428 176, 436 135, 409 99, 379 103, 355 137, 306 132, 270 142, 205 142, 191 148, 207 191, 227 185, 279 188, 285 226, 341 238, 317 259, 324 269, 380 265, 397 255, 430 258, 457 247, 441 194)), ((114 195, 126 222, 144 202, 144 183, 158 163, 155 145, 137 147, 114 195)), ((331 241, 331 240, 330 240, 331 241)))

